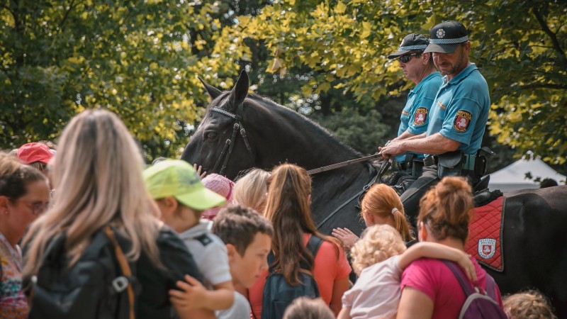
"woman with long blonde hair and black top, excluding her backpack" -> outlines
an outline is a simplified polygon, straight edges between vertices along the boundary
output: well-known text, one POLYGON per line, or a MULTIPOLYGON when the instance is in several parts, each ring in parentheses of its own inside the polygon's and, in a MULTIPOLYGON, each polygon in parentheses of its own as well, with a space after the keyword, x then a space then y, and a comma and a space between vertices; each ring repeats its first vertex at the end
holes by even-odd
MULTIPOLYGON (((183 242, 157 219, 158 208, 142 179, 140 149, 125 125, 109 111, 80 113, 64 128, 51 164, 58 190, 55 205, 25 237, 24 276, 38 274, 47 245, 61 234, 66 236, 62 260, 67 260, 65 267, 72 267, 91 239, 110 225, 120 243, 129 243, 123 250, 135 264, 133 272, 142 286, 136 318, 169 318, 168 290, 187 272, 200 274, 183 242)), ((98 306, 98 301, 92 302, 82 305, 84 318, 91 318, 98 306)), ((32 298, 30 318, 33 311, 32 298)))

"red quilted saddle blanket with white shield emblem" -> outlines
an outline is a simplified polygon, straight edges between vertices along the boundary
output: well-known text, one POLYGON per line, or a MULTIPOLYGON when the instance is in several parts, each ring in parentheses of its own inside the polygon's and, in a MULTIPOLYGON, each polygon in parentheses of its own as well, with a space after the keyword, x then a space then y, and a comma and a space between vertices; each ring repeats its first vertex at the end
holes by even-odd
POLYGON ((468 225, 465 252, 497 272, 504 270, 503 257, 503 203, 504 196, 485 206, 474 209, 474 217, 468 225))

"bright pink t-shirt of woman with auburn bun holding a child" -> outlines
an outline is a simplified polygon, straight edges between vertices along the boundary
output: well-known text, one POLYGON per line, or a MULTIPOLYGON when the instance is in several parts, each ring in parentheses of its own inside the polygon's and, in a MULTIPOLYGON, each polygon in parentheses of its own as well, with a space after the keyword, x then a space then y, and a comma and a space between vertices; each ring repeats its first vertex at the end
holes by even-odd
MULTIPOLYGON (((478 278, 476 286, 486 289, 486 272, 471 257, 478 278)), ((439 259, 422 258, 412 262, 402 274, 403 290, 405 286, 425 293, 433 301, 433 315, 435 318, 458 318, 461 307, 465 302, 465 293, 457 281, 456 276, 439 259)), ((500 289, 495 284, 496 301, 502 307, 500 289)))

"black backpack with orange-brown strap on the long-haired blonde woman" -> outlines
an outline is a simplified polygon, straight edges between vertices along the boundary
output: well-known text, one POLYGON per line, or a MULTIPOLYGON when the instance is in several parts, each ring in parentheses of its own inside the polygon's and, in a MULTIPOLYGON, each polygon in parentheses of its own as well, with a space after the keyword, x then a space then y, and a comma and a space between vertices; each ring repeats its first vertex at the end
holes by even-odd
POLYGON ((47 245, 31 278, 30 319, 134 319, 137 285, 110 227, 96 232, 79 260, 67 266, 65 234, 47 245))

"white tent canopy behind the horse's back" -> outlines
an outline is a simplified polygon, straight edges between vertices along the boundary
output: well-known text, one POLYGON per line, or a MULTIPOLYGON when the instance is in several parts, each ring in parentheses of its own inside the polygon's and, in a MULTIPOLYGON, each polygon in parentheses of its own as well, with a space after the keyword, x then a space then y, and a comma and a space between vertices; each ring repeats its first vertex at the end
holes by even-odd
POLYGON ((555 179, 560 185, 564 185, 567 179, 565 175, 559 174, 539 158, 522 158, 497 172, 491 173, 488 188, 491 190, 500 189, 504 192, 517 189, 537 189, 539 182, 534 181, 537 177, 540 180, 555 179), (532 174, 532 179, 526 178, 527 173, 532 174))

